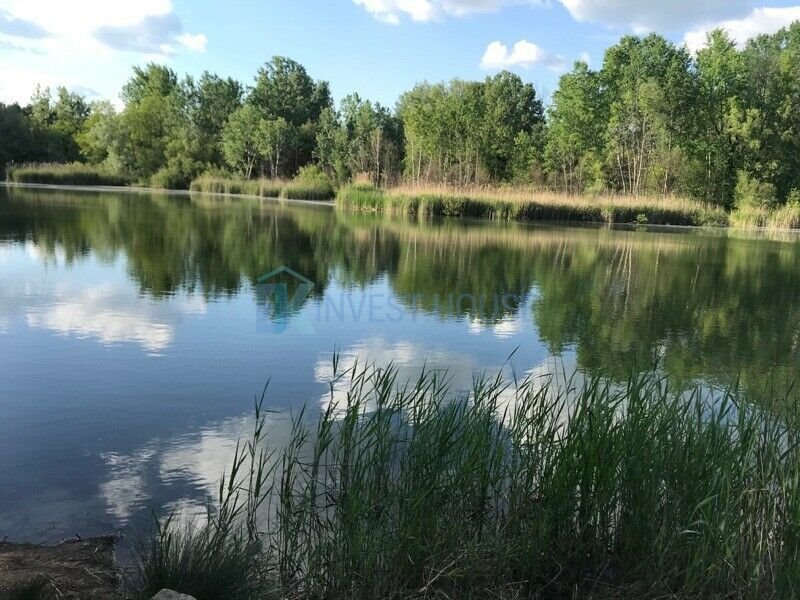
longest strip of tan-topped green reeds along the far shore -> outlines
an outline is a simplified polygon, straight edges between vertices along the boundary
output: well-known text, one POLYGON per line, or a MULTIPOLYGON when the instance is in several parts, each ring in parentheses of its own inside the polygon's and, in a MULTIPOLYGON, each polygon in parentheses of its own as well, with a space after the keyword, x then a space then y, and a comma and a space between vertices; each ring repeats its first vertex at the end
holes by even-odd
POLYGON ((677 197, 568 196, 515 187, 355 185, 337 195, 350 210, 463 216, 503 221, 552 220, 652 225, 724 226, 724 210, 677 197))

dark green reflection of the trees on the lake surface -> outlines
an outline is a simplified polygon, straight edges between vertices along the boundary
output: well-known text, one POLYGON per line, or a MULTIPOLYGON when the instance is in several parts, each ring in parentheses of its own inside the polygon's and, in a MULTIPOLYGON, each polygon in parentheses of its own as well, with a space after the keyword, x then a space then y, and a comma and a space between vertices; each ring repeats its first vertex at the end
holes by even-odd
POLYGON ((751 391, 796 379, 800 244, 728 235, 409 222, 315 207, 13 190, 0 237, 67 262, 124 256, 142 292, 233 295, 286 265, 315 283, 385 277, 408 305, 492 321, 532 296, 540 337, 620 377, 659 362, 679 380, 751 391), (480 301, 443 302, 449 295, 480 301))

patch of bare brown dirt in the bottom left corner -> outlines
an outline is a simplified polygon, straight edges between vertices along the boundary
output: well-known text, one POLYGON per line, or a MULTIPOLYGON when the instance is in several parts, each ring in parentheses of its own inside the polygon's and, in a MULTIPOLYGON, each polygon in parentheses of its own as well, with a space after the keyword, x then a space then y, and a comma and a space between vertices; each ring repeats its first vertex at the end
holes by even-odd
POLYGON ((113 537, 58 546, 0 542, 0 600, 118 600, 113 537))

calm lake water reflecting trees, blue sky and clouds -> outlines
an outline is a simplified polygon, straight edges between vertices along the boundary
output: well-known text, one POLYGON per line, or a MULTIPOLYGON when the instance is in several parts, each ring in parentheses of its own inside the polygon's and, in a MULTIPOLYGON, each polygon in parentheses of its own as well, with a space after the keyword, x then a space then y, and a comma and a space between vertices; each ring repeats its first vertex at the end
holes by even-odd
POLYGON ((0 188, 0 538, 202 511, 266 382, 280 440, 334 351, 455 389, 656 368, 763 403, 800 374, 798 313, 788 234, 0 188))

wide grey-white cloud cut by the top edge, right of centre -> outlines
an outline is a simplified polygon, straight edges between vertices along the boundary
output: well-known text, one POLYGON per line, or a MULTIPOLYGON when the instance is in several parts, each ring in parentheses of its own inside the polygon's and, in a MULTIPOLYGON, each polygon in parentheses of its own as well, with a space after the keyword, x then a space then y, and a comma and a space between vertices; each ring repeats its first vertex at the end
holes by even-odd
POLYGON ((752 0, 559 0, 581 22, 675 31, 747 14, 752 0))

